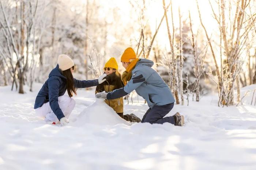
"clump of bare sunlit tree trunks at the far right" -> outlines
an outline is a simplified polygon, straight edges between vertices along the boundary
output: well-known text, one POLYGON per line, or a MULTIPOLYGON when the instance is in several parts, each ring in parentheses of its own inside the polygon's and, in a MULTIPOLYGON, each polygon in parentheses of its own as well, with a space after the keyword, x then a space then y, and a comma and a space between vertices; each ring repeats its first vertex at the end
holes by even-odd
MULTIPOLYGON (((217 21, 219 30, 221 33, 221 44, 220 49, 222 49, 222 45, 224 46, 224 52, 220 50, 221 56, 221 70, 217 64, 216 55, 212 46, 212 42, 210 41, 210 37, 208 36, 207 30, 204 27, 204 24, 201 19, 199 5, 197 3, 197 9, 199 12, 200 23, 204 28, 204 32, 206 33, 207 40, 209 42, 212 57, 215 62, 216 73, 217 73, 217 84, 218 84, 218 93, 219 93, 219 102, 224 105, 233 105, 234 104, 234 85, 237 86, 237 99, 240 98, 240 86, 239 86, 239 75, 242 68, 242 64, 244 61, 241 59, 241 54, 246 53, 246 40, 248 40, 249 33, 252 31, 252 27, 255 24, 256 16, 254 14, 249 16, 249 19, 246 20, 246 10, 250 8, 251 0, 237 0, 236 2, 236 12, 232 13, 232 11, 228 12, 228 17, 230 18, 230 22, 226 21, 226 8, 227 4, 224 0, 219 0, 217 5, 219 7, 219 11, 214 11, 212 7, 211 1, 209 0, 209 4, 212 8, 212 13, 214 15, 214 19, 217 21), (230 32, 227 32, 230 30, 230 32), (229 34, 228 34, 229 33, 229 34), (223 55, 225 58, 223 59, 223 55), (236 80, 238 79, 238 80, 236 80)), ((231 5, 231 4, 229 4, 231 5)), ((246 53, 247 54, 247 53, 246 53)))

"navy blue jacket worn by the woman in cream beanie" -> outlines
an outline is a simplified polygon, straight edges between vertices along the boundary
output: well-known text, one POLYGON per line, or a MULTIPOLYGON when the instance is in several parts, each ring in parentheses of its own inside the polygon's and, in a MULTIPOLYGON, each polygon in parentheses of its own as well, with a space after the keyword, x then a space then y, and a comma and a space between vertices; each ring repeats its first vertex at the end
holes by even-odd
MULTIPOLYGON (((44 103, 50 102, 50 107, 53 113, 60 120, 63 115, 63 112, 60 109, 58 103, 58 97, 63 96, 67 90, 66 87, 66 77, 61 74, 59 65, 57 65, 49 74, 49 78, 46 80, 41 90, 38 92, 37 97, 35 98, 34 109, 41 107, 44 103)), ((74 78, 75 88, 87 88, 91 86, 97 86, 98 79, 96 80, 76 80, 74 78)))

